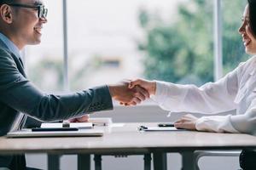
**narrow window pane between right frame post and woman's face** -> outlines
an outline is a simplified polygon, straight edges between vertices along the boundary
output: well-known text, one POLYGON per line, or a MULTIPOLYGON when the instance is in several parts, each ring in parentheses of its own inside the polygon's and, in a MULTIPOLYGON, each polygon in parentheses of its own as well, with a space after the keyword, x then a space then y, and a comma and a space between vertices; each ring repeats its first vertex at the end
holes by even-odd
POLYGON ((241 61, 248 58, 241 35, 238 33, 246 4, 247 1, 234 0, 230 3, 229 0, 222 0, 224 74, 232 71, 241 61))

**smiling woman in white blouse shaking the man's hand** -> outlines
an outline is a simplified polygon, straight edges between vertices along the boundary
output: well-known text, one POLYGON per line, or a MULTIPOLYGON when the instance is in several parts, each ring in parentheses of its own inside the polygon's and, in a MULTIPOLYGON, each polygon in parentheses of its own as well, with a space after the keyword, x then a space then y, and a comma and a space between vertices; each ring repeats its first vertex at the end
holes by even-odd
MULTIPOLYGON (((239 33, 246 53, 256 54, 256 0, 248 0, 239 33)), ((208 82, 200 88, 143 79, 131 81, 131 88, 136 85, 147 89, 151 98, 167 111, 214 114, 236 110, 236 116, 197 118, 186 115, 175 122, 175 127, 216 133, 256 134, 256 56, 238 65, 218 82, 208 82)), ((243 169, 256 169, 255 160, 255 152, 242 151, 243 169)))

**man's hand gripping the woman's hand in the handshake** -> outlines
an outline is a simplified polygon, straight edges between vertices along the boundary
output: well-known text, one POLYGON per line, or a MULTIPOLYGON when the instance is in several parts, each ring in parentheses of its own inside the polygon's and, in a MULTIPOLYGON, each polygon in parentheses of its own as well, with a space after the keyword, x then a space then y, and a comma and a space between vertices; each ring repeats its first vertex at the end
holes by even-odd
POLYGON ((148 91, 144 88, 138 86, 128 88, 128 85, 129 81, 108 85, 112 98, 118 100, 121 105, 137 105, 149 98, 148 91))

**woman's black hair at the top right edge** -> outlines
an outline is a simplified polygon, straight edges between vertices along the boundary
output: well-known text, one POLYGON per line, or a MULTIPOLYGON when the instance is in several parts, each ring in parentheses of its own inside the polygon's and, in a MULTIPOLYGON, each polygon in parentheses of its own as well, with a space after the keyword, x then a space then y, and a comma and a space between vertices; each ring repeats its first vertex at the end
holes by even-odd
POLYGON ((253 31, 253 36, 256 37, 256 0, 247 0, 249 7, 249 21, 253 31))

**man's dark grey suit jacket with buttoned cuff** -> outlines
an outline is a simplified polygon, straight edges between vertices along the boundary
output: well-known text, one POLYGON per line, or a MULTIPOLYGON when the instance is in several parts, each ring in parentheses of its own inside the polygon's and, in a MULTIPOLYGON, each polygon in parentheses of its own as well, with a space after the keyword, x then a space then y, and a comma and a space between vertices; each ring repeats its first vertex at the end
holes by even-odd
MULTIPOLYGON (((18 56, 0 41, 0 135, 9 132, 19 112, 49 122, 109 109, 113 104, 108 86, 66 95, 44 94, 26 79, 18 56)), ((0 157, 0 167, 9 167, 11 157, 0 157)))

